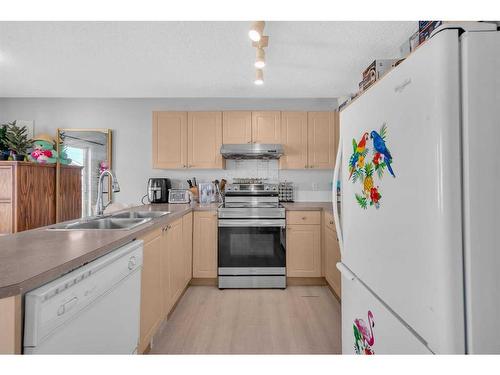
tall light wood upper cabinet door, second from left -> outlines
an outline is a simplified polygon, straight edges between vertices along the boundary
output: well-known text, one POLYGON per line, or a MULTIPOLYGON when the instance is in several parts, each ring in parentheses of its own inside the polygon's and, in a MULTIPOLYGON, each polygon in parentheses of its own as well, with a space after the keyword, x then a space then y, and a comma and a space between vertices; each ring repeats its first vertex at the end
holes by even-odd
POLYGON ((188 168, 222 168, 222 112, 188 113, 188 168))

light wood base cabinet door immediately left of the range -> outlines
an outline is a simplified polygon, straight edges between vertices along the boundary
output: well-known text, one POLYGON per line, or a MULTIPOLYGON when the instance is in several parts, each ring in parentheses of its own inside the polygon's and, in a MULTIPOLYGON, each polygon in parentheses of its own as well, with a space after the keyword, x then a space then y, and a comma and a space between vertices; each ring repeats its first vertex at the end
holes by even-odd
POLYGON ((193 277, 217 277, 217 212, 194 213, 193 277))

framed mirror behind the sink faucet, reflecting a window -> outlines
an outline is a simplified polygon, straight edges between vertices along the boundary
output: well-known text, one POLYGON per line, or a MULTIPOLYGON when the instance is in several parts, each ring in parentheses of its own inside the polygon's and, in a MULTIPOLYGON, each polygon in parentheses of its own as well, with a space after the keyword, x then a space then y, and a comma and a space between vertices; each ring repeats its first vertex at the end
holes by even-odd
MULTIPOLYGON (((99 176, 112 169, 112 145, 111 129, 57 129, 57 222, 94 216, 99 176)), ((108 176, 103 192, 111 200, 108 176)))

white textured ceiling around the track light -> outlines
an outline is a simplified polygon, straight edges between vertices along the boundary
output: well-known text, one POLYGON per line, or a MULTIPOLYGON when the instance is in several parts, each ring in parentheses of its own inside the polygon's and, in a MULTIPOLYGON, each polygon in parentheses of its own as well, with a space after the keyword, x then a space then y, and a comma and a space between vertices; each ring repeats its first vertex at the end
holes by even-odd
POLYGON ((0 22, 0 97, 334 98, 415 22, 267 22, 253 84, 250 22, 0 22))

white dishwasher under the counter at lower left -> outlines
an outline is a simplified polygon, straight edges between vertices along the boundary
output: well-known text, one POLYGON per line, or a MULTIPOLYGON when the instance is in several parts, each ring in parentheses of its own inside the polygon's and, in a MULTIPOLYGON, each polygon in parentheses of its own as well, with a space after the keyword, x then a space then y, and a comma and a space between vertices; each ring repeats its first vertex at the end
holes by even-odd
POLYGON ((142 252, 133 241, 26 293, 24 353, 135 353, 142 252))

